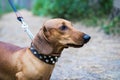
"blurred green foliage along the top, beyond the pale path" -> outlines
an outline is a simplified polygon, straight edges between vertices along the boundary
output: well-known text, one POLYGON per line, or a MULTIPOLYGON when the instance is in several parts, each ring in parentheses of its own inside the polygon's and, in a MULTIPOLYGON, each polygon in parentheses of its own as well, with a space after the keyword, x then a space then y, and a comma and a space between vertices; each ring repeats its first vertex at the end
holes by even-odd
MULTIPOLYGON (((13 0, 17 9, 37 16, 60 17, 100 26, 107 34, 120 34, 120 0, 13 0)), ((11 12, 7 0, 0 0, 0 15, 11 12)))

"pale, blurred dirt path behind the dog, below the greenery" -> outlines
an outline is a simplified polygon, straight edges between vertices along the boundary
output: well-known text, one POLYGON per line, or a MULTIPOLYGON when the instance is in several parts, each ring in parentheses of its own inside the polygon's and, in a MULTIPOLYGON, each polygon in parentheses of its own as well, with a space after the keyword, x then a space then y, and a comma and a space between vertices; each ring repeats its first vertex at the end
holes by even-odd
MULTIPOLYGON (((35 35, 43 22, 49 18, 33 16, 26 10, 20 11, 35 35)), ((30 39, 21 29, 14 13, 0 19, 0 41, 19 46, 30 46, 30 39)), ((98 28, 74 24, 80 31, 92 36, 83 48, 63 51, 51 80, 120 80, 120 37, 105 35, 98 28)))

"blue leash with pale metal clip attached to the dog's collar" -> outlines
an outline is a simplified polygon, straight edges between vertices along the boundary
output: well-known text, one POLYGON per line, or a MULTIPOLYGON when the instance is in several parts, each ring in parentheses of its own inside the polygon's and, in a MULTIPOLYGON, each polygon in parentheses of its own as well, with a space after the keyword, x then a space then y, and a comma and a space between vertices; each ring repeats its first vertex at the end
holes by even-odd
POLYGON ((10 6, 12 7, 13 11, 15 12, 16 17, 17 17, 17 20, 21 22, 21 24, 22 24, 21 27, 23 28, 24 32, 26 32, 27 35, 29 36, 29 38, 30 38, 31 40, 33 40, 34 36, 33 36, 33 34, 31 33, 31 31, 29 30, 28 25, 25 23, 23 17, 22 17, 22 16, 20 15, 20 13, 17 11, 16 7, 13 5, 13 0, 8 0, 8 2, 9 2, 9 4, 10 4, 10 6))

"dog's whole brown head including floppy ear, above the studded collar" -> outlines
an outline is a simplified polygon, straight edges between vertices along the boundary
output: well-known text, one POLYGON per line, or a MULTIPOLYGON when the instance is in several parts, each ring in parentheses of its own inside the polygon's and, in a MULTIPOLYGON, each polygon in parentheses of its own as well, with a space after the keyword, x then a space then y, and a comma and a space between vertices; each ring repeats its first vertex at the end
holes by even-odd
POLYGON ((75 29, 70 21, 50 19, 44 23, 33 44, 40 53, 59 56, 64 48, 82 47, 89 40, 90 36, 75 29))

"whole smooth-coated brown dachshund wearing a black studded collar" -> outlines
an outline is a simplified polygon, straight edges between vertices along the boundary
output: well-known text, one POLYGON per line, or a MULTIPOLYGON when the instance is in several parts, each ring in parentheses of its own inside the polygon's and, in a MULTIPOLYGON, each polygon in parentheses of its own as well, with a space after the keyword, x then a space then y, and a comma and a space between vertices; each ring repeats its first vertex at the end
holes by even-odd
POLYGON ((48 20, 31 47, 0 42, 0 80, 49 80, 63 49, 82 47, 89 40, 67 20, 48 20))

